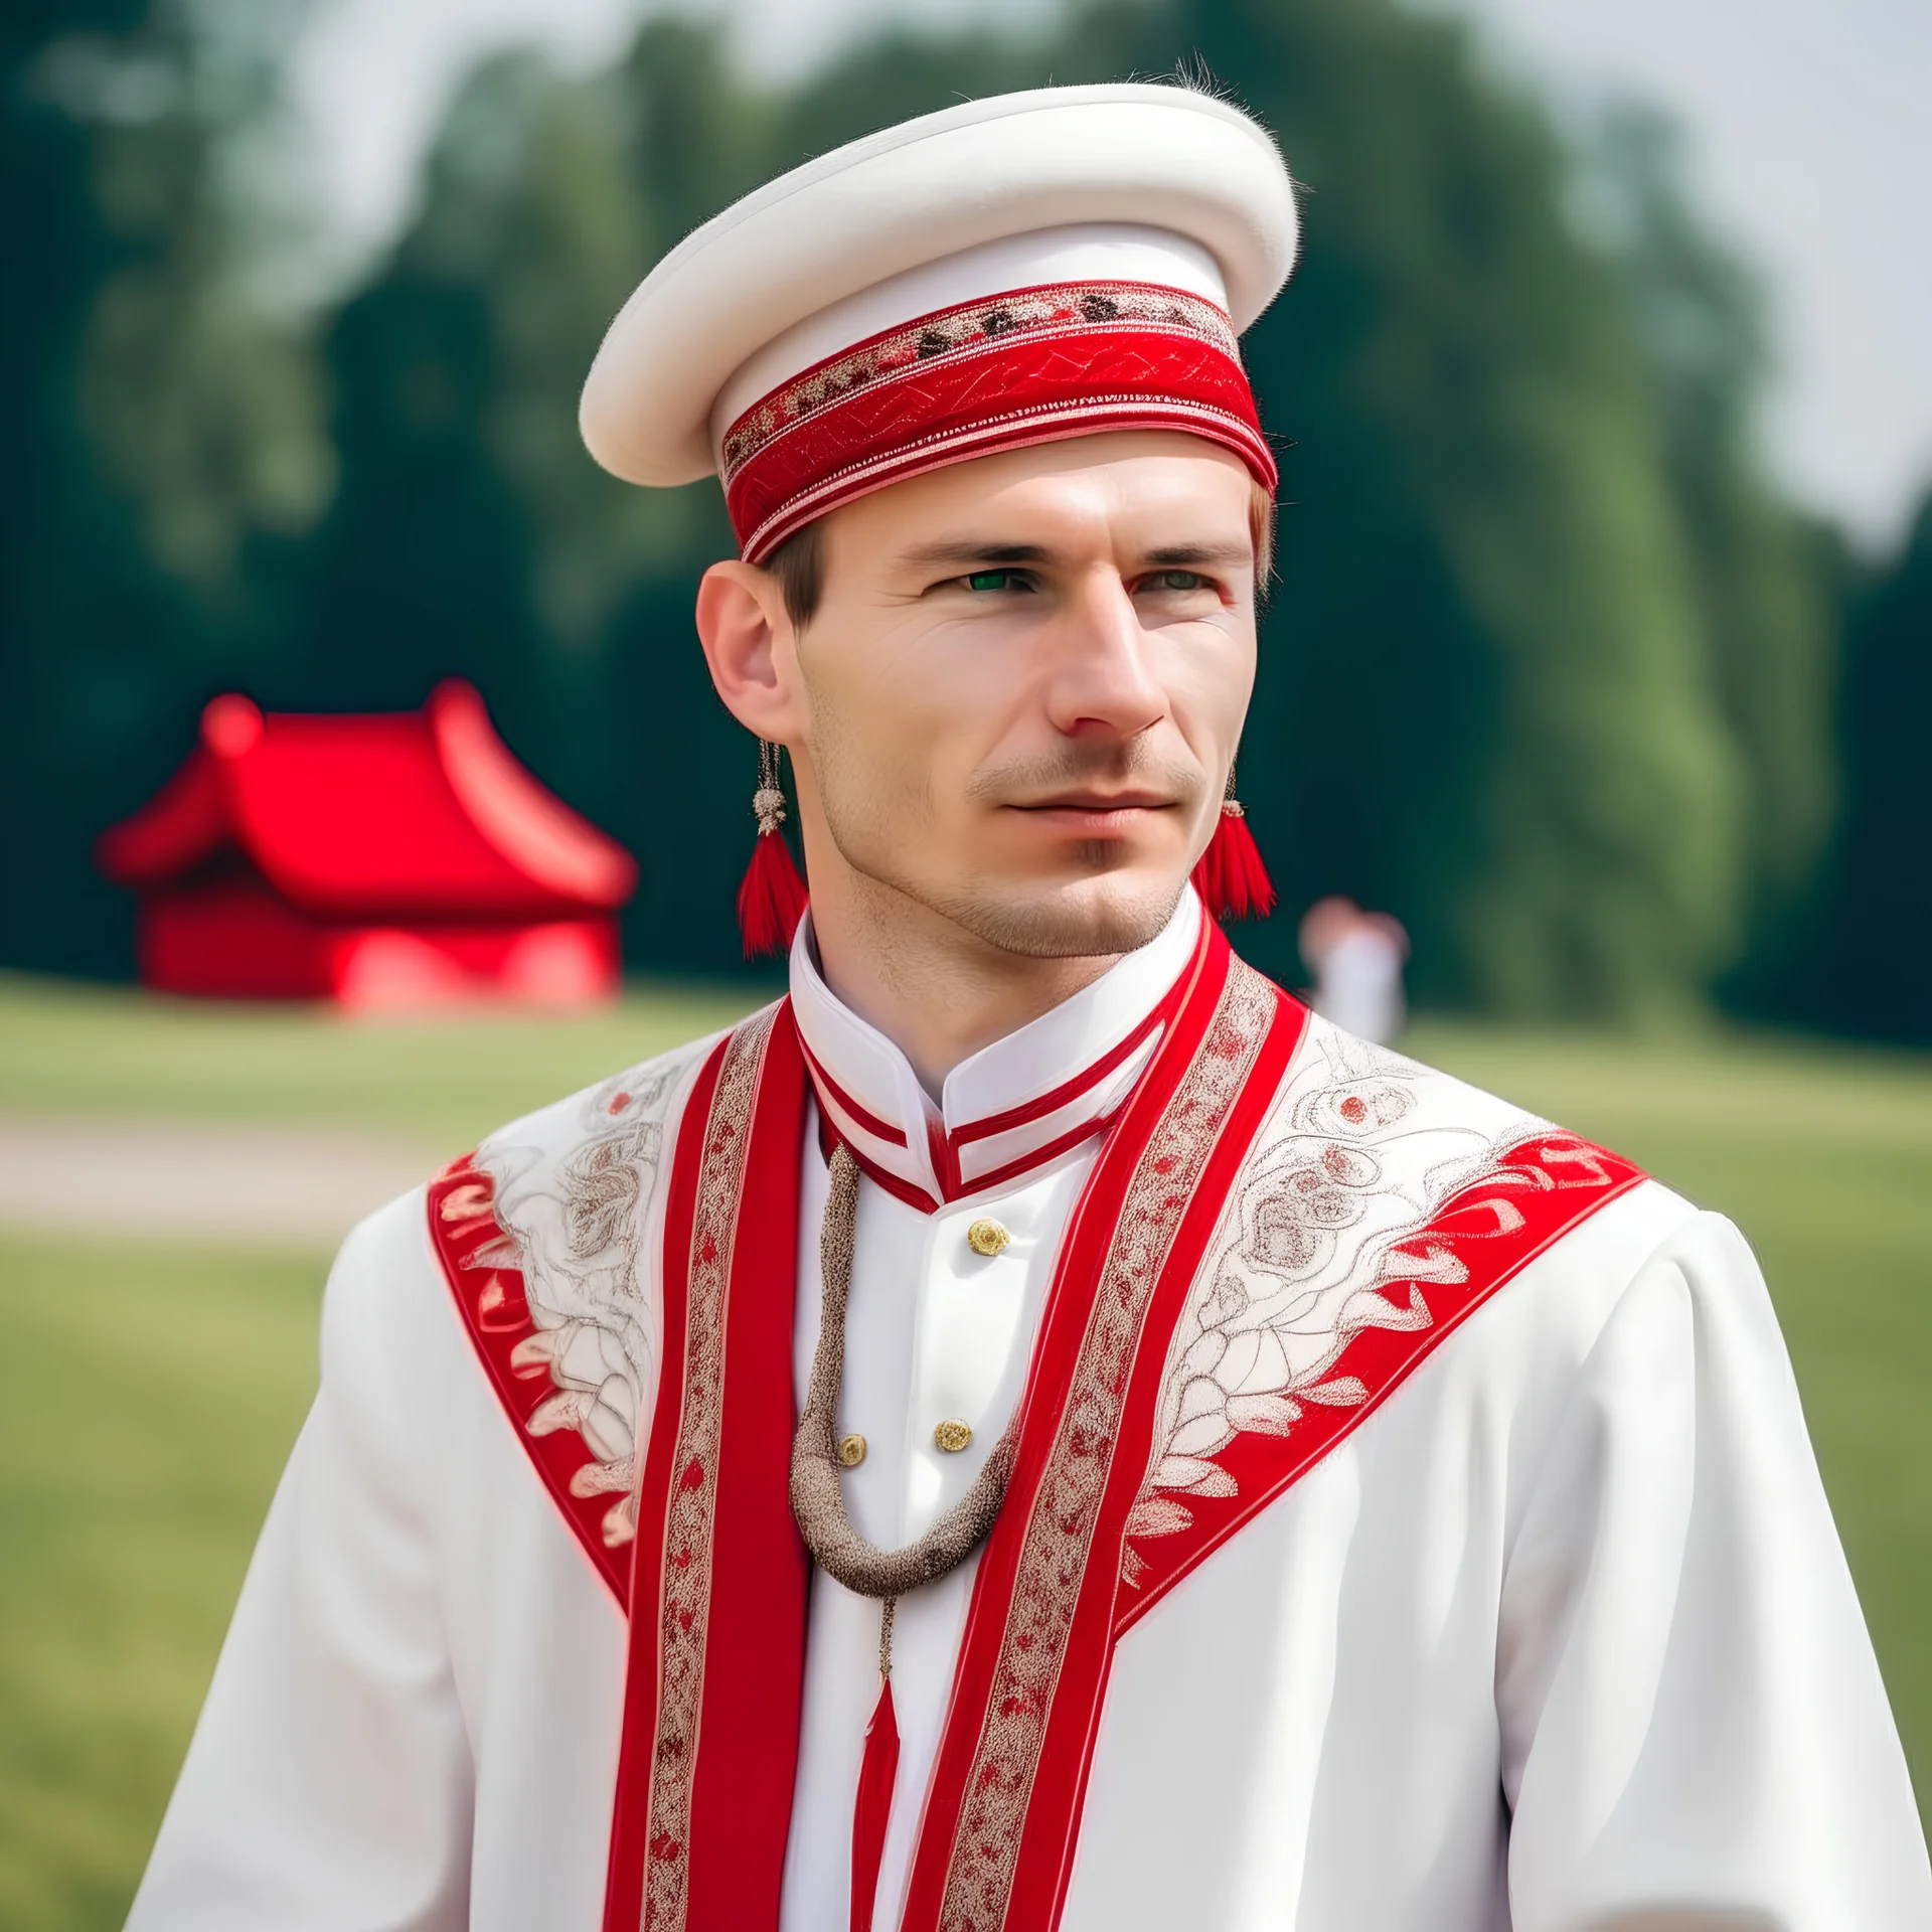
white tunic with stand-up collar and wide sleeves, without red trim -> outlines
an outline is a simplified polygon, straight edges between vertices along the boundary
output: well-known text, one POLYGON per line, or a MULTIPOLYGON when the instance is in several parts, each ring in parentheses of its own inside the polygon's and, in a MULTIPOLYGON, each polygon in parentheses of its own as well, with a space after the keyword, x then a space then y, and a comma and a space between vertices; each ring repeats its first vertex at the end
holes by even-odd
MULTIPOLYGON (((1190 898, 1153 947, 976 1055, 937 1109, 802 949, 800 1034, 840 1128, 856 1109, 887 1136, 881 1165, 937 1186, 929 1128, 970 1134, 1078 1088, 1142 1028, 1192 918, 1190 898)), ((1314 1092, 1323 1057, 1360 1070, 1366 1053, 1314 1022, 1289 1090, 1314 1092)), ((655 1070, 682 1092, 696 1063, 655 1070)), ((1103 1117, 1142 1063, 1117 1053, 1047 1126, 964 1142, 966 1184, 972 1159, 991 1173, 1030 1134, 1037 1148, 1103 1117)), ((1416 1095, 1381 1150, 1391 1167, 1416 1153, 1412 1192, 1443 1146, 1520 1121, 1439 1074, 1374 1065, 1416 1095)), ((498 1140, 514 1151, 580 1117, 564 1103, 498 1140)), ((1010 1416, 1095 1146, 935 1211, 864 1184, 840 1426, 867 1437, 848 1501, 871 1540, 918 1536, 1010 1416), (999 1256, 968 1246, 980 1217, 1012 1236, 999 1256), (947 1418, 972 1426, 972 1449, 933 1447, 947 1418)), ((800 1391, 825 1200, 813 1134, 804 1180, 800 1391)), ((898 1607, 881 1926, 970 1588, 972 1565, 898 1607)), ((784 1932, 846 1928, 875 1660, 877 1605, 817 1575, 784 1932)), ((622 1690, 622 1613, 481 1374, 408 1196, 330 1275, 321 1393, 129 1924, 595 1932, 622 1690)), ((1122 1636, 1063 1926, 1932 1926, 1897 1735, 1729 1223, 1656 1182, 1600 1209, 1122 1636)))

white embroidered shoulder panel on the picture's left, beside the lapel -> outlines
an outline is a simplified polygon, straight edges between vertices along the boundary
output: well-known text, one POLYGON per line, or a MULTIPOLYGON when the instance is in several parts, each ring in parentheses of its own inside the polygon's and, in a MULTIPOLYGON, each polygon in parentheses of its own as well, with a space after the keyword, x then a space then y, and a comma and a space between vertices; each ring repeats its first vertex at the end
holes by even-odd
POLYGON ((497 1219, 535 1323, 510 1362, 526 1374, 549 1368, 556 1385, 526 1428, 583 1437, 593 1461, 570 1490, 618 1497, 603 1522, 612 1546, 638 1532, 638 1428, 657 1387, 663 1310, 649 1244, 670 1175, 667 1126, 715 1043, 674 1047, 514 1121, 475 1155, 497 1184, 497 1219))

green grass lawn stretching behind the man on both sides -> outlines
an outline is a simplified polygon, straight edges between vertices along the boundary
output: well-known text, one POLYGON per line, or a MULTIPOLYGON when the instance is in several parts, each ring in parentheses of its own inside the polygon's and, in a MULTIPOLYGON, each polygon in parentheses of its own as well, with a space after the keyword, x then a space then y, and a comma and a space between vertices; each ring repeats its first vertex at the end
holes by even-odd
MULTIPOLYGON (((744 1001, 346 1024, 0 980, 0 1111, 327 1121, 460 1150, 744 1001)), ((1932 1795, 1932 1063, 1428 1024, 1420 1059, 1731 1213, 1777 1298, 1932 1795)), ((139 1876, 313 1383, 327 1256, 0 1236, 0 1926, 106 1932, 139 1876)))

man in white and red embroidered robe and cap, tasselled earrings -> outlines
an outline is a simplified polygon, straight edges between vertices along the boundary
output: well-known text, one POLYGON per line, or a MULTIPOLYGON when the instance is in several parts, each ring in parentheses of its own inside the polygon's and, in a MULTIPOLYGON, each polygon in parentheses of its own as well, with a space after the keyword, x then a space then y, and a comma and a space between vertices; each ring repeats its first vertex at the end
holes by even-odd
POLYGON ((618 317, 790 997, 350 1238, 141 1932, 1932 1924, 1743 1240, 1204 906, 1293 249, 1242 114, 1065 89, 618 317))

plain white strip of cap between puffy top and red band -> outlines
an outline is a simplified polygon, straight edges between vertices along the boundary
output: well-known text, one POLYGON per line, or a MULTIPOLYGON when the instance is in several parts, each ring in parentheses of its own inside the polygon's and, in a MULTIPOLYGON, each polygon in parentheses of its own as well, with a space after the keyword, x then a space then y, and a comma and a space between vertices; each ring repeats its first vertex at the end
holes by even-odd
POLYGON ((1003 236, 873 282, 767 342, 719 392, 711 410, 711 460, 723 462, 724 431, 753 402, 813 363, 922 315, 1049 282, 1148 282, 1153 288, 1182 288, 1217 309, 1227 307, 1221 265, 1186 236, 1136 222, 1080 222, 1003 236))

